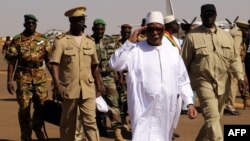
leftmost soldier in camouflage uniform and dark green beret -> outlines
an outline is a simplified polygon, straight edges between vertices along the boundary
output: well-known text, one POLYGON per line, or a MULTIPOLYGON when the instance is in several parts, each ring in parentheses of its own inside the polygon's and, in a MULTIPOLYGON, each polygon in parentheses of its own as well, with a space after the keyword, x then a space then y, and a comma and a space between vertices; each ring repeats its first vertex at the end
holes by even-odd
POLYGON ((18 119, 21 128, 21 141, 31 141, 32 129, 39 141, 46 140, 41 108, 47 98, 46 71, 43 62, 48 62, 49 43, 46 37, 36 32, 37 18, 24 15, 25 30, 16 35, 6 52, 8 61, 7 89, 14 94, 12 78, 16 81, 16 97, 19 104, 18 119), (31 118, 31 101, 34 112, 31 118))

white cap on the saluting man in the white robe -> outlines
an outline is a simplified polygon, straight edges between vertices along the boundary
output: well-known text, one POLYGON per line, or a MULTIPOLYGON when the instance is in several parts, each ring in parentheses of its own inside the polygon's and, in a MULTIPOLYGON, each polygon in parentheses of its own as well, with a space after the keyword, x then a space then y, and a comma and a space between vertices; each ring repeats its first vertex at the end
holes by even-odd
POLYGON ((164 25, 163 16, 160 11, 151 11, 147 14, 146 25, 151 23, 160 23, 164 25))

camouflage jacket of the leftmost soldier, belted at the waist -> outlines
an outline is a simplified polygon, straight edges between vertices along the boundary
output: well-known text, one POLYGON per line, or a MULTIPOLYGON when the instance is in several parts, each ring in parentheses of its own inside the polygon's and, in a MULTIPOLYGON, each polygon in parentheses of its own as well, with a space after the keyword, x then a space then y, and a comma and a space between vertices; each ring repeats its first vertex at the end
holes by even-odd
POLYGON ((50 50, 47 38, 38 32, 31 37, 16 35, 5 55, 8 63, 15 65, 14 79, 34 84, 46 81, 44 61, 49 61, 50 50))

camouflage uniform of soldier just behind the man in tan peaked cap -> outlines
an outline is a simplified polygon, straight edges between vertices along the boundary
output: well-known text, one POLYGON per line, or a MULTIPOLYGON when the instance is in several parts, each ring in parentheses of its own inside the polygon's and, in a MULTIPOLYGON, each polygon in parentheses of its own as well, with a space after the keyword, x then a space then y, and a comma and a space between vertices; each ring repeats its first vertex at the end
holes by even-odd
POLYGON ((109 118, 112 128, 123 127, 121 123, 120 110, 118 104, 118 92, 115 84, 116 74, 109 68, 108 62, 111 55, 115 52, 115 42, 111 36, 104 35, 100 44, 96 44, 96 51, 100 60, 100 72, 106 93, 103 94, 111 111, 109 118))

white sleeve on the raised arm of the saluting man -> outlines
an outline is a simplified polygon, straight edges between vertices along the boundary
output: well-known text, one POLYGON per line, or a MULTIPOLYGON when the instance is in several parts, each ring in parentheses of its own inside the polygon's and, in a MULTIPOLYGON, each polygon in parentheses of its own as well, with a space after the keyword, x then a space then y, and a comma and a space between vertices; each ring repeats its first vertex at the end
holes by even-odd
POLYGON ((127 61, 129 60, 130 51, 135 47, 135 44, 127 40, 109 60, 109 67, 115 71, 127 69, 127 61))

